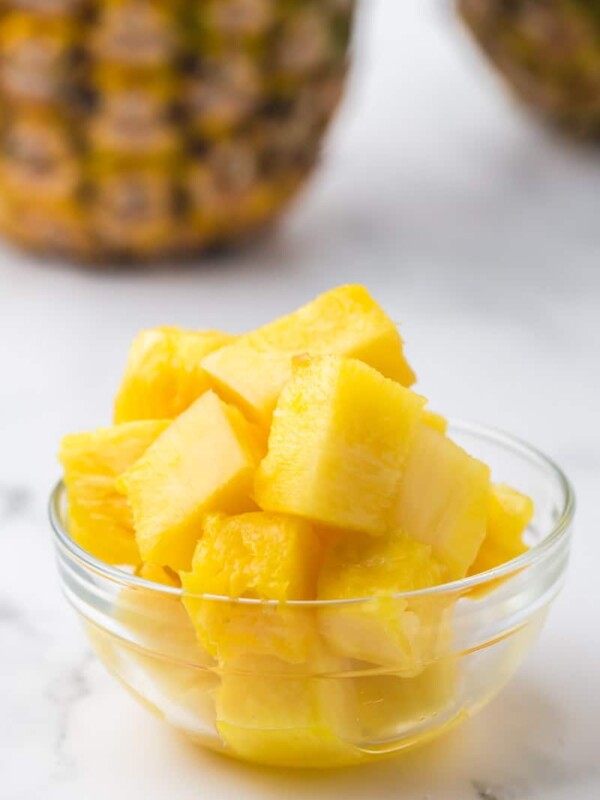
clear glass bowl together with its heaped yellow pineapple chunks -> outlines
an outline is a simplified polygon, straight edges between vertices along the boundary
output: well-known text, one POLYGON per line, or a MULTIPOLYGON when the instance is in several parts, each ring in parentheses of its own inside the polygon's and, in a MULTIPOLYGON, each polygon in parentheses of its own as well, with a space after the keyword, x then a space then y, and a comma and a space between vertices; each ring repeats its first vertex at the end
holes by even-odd
POLYGON ((65 594, 194 741, 362 763, 438 736, 522 660, 572 491, 528 445, 447 428, 414 380, 395 324, 339 287, 239 337, 144 332, 115 424, 63 440, 65 594))

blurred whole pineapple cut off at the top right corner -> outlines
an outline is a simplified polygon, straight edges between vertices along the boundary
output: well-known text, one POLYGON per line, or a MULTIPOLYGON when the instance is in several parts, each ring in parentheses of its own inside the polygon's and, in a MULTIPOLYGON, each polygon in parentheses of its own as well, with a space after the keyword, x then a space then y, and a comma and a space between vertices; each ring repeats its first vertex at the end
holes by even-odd
POLYGON ((600 135, 599 0, 457 0, 517 95, 571 133, 600 135))

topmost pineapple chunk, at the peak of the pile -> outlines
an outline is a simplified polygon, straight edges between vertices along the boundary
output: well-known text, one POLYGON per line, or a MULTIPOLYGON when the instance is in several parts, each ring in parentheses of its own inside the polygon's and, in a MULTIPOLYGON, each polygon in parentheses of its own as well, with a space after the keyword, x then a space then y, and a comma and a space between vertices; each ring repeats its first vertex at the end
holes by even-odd
POLYGON ((405 386, 415 381, 395 324, 362 286, 326 292, 210 354, 202 366, 219 394, 268 426, 293 357, 304 353, 350 356, 405 386))

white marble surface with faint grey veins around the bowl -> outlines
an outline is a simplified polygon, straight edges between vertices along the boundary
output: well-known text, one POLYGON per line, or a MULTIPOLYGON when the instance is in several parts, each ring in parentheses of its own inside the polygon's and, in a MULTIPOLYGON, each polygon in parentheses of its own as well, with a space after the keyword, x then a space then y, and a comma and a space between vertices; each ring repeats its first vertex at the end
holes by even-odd
POLYGON ((514 111, 433 0, 369 0, 360 79, 311 191, 270 241, 196 268, 99 273, 0 252, 0 798, 600 797, 600 153, 514 111), (485 712, 381 766, 286 774, 197 751, 88 653, 45 504, 65 431, 108 420, 142 326, 242 330, 344 281, 402 322, 423 390, 573 478, 570 580, 485 712))

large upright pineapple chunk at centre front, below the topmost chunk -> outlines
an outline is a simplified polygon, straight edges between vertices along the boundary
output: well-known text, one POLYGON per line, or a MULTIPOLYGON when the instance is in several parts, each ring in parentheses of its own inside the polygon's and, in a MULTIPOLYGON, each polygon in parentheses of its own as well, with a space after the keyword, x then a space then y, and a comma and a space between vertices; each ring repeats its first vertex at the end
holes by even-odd
POLYGON ((424 405, 360 361, 298 359, 257 472, 259 506, 384 533, 424 405))

